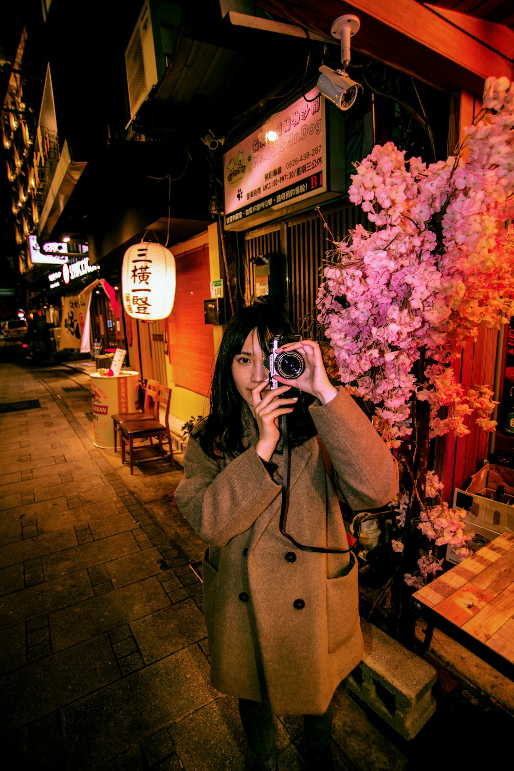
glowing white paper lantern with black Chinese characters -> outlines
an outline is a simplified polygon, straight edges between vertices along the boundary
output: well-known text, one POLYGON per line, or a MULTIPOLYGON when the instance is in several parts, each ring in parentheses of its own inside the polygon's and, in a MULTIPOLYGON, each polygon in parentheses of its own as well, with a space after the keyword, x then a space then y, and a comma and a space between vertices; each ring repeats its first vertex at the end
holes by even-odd
POLYGON ((155 322, 167 318, 175 301, 175 258, 161 244, 142 241, 123 256, 122 294, 132 318, 155 322))

